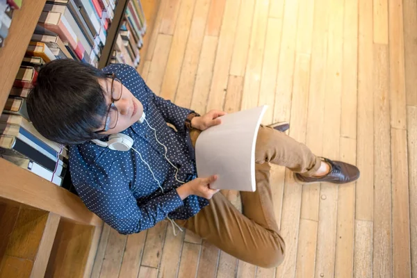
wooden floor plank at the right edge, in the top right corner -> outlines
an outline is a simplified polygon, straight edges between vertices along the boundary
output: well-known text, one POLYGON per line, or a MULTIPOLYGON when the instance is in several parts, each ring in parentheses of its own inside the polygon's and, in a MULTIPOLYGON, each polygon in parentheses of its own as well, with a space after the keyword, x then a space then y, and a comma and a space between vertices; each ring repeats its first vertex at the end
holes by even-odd
POLYGON ((405 90, 407 104, 417 106, 417 2, 402 1, 404 17, 405 90))

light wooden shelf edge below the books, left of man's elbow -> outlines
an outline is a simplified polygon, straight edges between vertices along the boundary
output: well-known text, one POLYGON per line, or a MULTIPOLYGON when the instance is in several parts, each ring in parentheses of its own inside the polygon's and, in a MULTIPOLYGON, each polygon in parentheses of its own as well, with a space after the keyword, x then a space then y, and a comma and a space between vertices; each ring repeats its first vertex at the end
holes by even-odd
POLYGON ((51 211, 77 222, 102 224, 79 197, 3 158, 0 158, 0 177, 0 198, 51 211))

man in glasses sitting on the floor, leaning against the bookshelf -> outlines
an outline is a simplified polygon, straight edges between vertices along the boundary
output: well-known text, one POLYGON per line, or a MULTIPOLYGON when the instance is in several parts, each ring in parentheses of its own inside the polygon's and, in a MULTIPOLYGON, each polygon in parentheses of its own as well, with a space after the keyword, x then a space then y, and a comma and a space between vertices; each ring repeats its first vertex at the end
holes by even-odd
POLYGON ((28 96, 28 114, 43 136, 70 146, 70 173, 79 196, 120 234, 138 233, 168 218, 224 252, 263 268, 275 267, 284 258, 269 163, 293 170, 300 183, 359 178, 357 167, 318 158, 285 133, 261 126, 256 192, 240 193, 240 213, 210 188, 215 176, 197 178, 195 169, 193 146, 199 132, 221 124, 224 113, 199 116, 175 106, 154 95, 127 65, 100 71, 74 60, 54 60, 39 72, 28 96), (145 123, 139 124, 143 113, 145 123), (106 141, 116 133, 133 139, 128 152, 92 142, 106 141))

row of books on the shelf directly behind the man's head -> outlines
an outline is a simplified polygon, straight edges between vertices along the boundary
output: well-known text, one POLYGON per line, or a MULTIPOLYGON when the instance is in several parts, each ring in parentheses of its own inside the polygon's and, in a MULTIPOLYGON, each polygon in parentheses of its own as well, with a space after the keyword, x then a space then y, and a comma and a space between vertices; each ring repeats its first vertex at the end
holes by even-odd
POLYGON ((40 67, 51 60, 72 58, 97 66, 114 8, 115 0, 47 1, 0 115, 2 158, 63 185, 68 176, 67 147, 36 131, 28 118, 26 97, 40 67))

